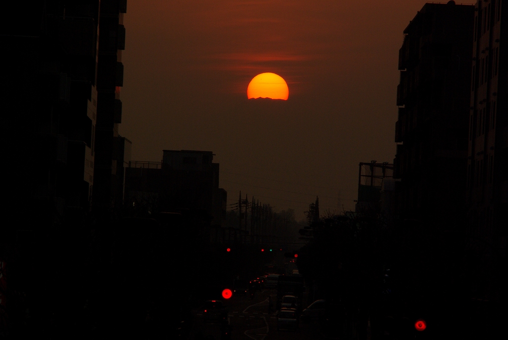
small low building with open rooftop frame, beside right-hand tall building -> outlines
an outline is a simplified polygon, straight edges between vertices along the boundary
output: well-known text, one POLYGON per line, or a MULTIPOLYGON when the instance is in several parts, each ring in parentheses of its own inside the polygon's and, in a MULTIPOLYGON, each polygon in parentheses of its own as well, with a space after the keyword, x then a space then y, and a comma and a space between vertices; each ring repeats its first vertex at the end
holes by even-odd
MULTIPOLYGON (((359 167, 358 199, 355 211, 378 211, 384 183, 393 180, 393 164, 371 161, 370 163, 360 163, 359 167)), ((385 196, 383 197, 385 198, 385 196)))

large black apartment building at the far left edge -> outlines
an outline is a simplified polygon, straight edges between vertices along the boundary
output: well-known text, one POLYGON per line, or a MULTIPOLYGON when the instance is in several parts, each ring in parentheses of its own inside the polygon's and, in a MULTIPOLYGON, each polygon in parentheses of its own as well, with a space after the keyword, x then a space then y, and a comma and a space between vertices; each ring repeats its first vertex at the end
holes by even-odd
MULTIPOLYGON (((93 184, 99 0, 6 4, 4 193, 13 216, 61 223, 93 184), (7 114, 8 113, 8 114, 7 114)), ((30 225, 30 223, 28 223, 30 225)), ((31 228, 31 227, 30 227, 31 228)))

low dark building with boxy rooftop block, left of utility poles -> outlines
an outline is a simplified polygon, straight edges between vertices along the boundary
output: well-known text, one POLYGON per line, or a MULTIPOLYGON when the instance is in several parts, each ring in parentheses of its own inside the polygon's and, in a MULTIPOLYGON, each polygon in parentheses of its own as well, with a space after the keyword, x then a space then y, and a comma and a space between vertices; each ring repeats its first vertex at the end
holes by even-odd
POLYGON ((162 162, 131 161, 125 169, 125 202, 159 211, 190 211, 225 226, 227 193, 218 187, 212 151, 163 150, 162 162))

